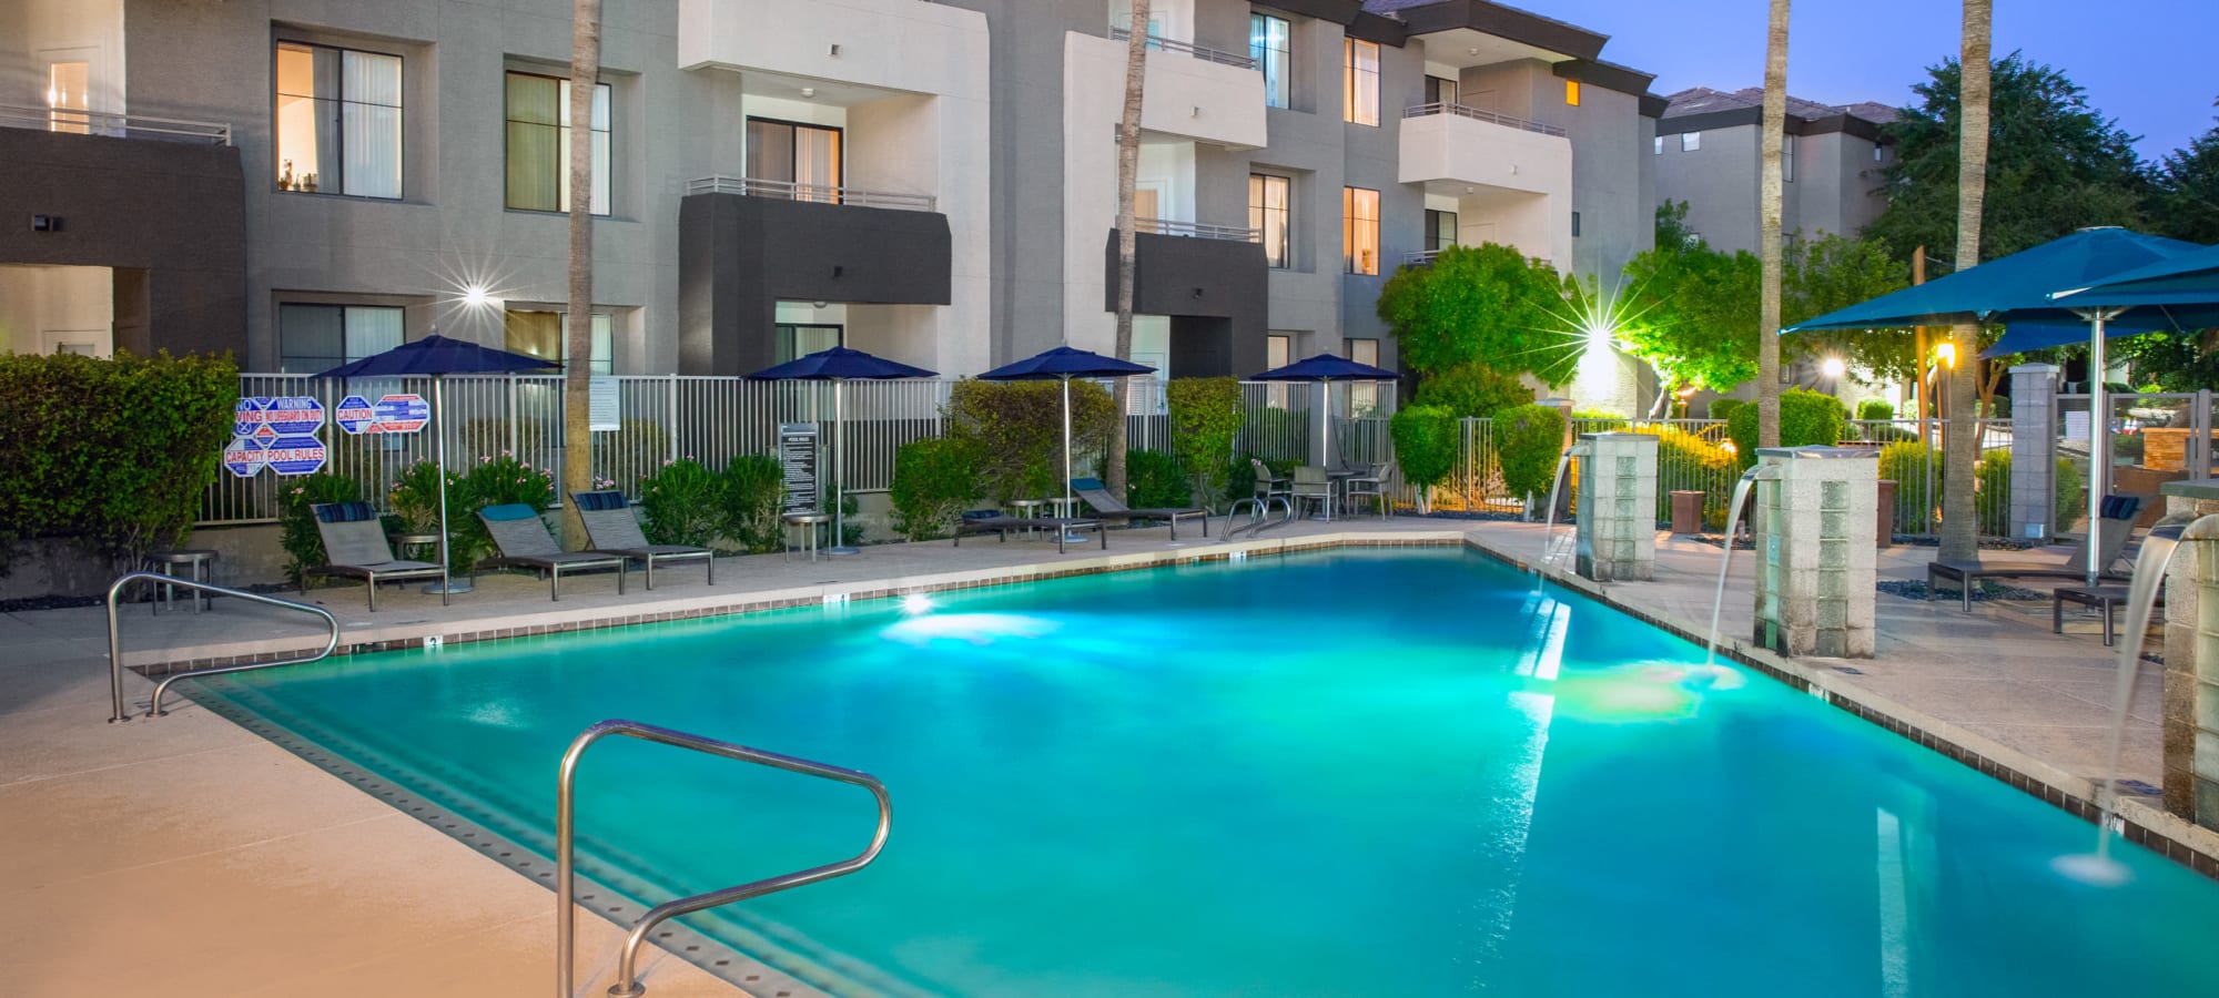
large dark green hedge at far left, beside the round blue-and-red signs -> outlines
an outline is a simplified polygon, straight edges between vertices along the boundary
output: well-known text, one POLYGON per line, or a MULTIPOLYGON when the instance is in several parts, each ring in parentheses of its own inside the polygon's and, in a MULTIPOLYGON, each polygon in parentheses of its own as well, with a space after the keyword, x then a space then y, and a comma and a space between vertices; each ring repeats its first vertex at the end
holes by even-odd
POLYGON ((0 353, 0 566, 27 537, 118 568, 184 543, 237 399, 229 357, 0 353))

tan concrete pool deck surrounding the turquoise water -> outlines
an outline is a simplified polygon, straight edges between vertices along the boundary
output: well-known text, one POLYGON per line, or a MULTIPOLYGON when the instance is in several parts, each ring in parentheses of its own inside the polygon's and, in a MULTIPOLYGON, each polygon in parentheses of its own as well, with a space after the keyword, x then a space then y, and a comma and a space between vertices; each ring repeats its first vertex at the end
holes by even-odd
MULTIPOLYGON (((701 583, 699 568, 657 572, 652 594, 637 574, 626 597, 615 594, 608 577, 566 579, 559 603, 526 577, 479 579, 477 592, 457 594, 446 608, 437 597, 388 588, 368 614, 359 585, 320 588, 308 599, 337 614, 342 648, 373 650, 428 634, 499 639, 1229 550, 1465 539, 1524 563, 1540 552, 1540 526, 1398 517, 1305 521, 1232 546, 1187 530, 1174 543, 1154 528, 1112 532, 1107 552, 1087 543, 1056 554, 1045 541, 987 537, 963 548, 945 541, 865 548, 817 563, 766 554, 721 561, 715 588, 701 583)), ((1600 590, 1660 623, 1700 632, 1711 614, 1718 554, 1715 546, 1666 537, 1655 581, 1600 590)), ((1884 550, 1879 574, 1924 577, 1931 557, 1933 548, 1884 550)), ((1751 566, 1749 552, 1735 557, 1729 632, 1746 628, 1751 566)), ((197 661, 226 661, 320 645, 313 623, 304 614, 217 601, 209 614, 149 617, 144 605, 131 605, 122 630, 129 663, 180 650, 197 661)), ((109 674, 98 608, 0 614, 0 648, 7 648, 0 654, 0 874, 7 874, 0 965, 13 971, 11 994, 546 994, 553 896, 541 885, 186 699, 173 696, 164 719, 102 723, 109 674)), ((2101 770, 2115 676, 2108 652, 2086 614, 2068 621, 2064 637, 2050 634, 2046 601, 1975 603, 1964 614, 1953 599, 1879 594, 1877 659, 1753 659, 2070 792, 2101 770)), ((144 712, 151 688, 126 672, 126 705, 144 712)), ((2155 785, 2157 772, 2152 672, 2132 703, 2126 776, 2155 785)), ((901 787, 892 792, 890 847, 899 849, 901 787)), ((2195 843, 2206 867, 2219 854, 2219 836, 2177 821, 2166 825, 2170 818, 2132 801, 2126 814, 2195 843)), ((597 996, 608 985, 617 929, 588 916, 579 931, 579 994, 597 996)), ((661 951, 648 960, 646 980, 657 996, 737 994, 661 951)), ((808 987, 766 974, 748 991, 779 998, 808 987)))

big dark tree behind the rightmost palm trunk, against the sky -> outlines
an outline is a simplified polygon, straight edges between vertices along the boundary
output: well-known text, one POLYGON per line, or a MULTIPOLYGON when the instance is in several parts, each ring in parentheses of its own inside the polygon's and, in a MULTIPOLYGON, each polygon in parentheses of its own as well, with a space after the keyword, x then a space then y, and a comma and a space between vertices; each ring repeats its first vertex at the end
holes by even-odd
MULTIPOLYGON (((1897 257, 1915 246, 1955 246, 1959 197, 1959 111, 1970 104, 1964 60, 1928 67, 1913 86, 1915 106, 1884 126, 1895 162, 1882 169, 1888 206, 1864 231, 1897 257)), ((1988 62, 1995 160, 1988 164, 1977 240, 1979 259, 2039 246, 2086 226, 2139 226, 2148 180, 2135 138, 2088 106, 2088 95, 2057 69, 2019 53, 1988 62)), ((1975 259, 1975 262, 1979 262, 1975 259)), ((1970 264, 1966 264, 1970 266, 1970 264)))

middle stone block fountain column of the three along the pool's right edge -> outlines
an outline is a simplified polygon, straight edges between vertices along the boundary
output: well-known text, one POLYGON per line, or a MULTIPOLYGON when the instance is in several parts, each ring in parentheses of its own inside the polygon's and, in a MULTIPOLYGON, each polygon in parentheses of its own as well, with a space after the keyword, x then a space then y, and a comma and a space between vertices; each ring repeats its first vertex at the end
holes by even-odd
POLYGON ((1780 654, 1873 656, 1879 455, 1760 448, 1755 643, 1780 654))

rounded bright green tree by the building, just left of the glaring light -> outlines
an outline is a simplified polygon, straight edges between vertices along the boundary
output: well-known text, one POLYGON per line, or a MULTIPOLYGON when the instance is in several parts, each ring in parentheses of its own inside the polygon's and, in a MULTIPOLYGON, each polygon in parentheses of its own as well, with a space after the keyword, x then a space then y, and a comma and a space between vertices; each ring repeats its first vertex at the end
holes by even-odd
POLYGON ((1584 342, 1567 304, 1575 293, 1553 266, 1489 242, 1396 271, 1380 288, 1378 315, 1420 375, 1485 364, 1564 384, 1584 342))

